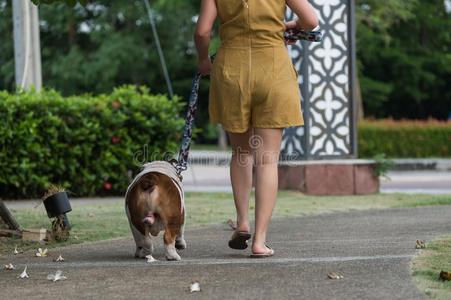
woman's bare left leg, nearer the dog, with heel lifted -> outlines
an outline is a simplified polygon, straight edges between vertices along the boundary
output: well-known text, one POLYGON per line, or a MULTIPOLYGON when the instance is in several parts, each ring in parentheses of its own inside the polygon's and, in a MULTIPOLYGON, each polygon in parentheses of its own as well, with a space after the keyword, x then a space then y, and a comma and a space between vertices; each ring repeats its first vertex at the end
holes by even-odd
POLYGON ((252 189, 252 148, 249 140, 252 129, 245 133, 228 132, 232 145, 230 161, 230 180, 232 182, 233 199, 237 214, 237 230, 250 230, 249 227, 249 197, 252 189))

